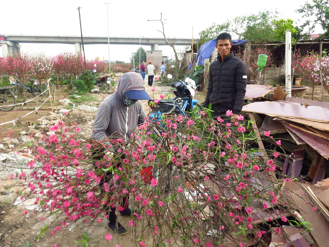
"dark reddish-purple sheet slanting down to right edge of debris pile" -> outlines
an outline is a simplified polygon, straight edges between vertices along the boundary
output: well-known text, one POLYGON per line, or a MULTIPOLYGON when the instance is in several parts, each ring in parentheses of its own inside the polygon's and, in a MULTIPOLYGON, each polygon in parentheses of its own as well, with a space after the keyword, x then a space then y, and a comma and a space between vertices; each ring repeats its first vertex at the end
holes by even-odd
POLYGON ((305 141, 311 148, 317 151, 321 156, 329 158, 329 141, 317 135, 304 131, 302 128, 293 126, 291 124, 284 124, 287 128, 298 135, 303 141, 305 141))

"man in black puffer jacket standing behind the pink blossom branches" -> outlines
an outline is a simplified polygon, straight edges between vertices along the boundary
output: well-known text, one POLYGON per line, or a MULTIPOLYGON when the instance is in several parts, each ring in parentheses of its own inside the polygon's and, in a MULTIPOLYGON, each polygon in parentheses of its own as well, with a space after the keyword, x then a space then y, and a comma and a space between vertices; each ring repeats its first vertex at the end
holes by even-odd
POLYGON ((224 123, 234 124, 242 110, 247 86, 247 66, 231 51, 232 38, 221 33, 216 38, 217 60, 209 68, 209 84, 204 107, 212 104, 212 117, 221 117, 224 123), (232 116, 226 112, 232 111, 232 116), (232 118, 231 118, 232 117, 232 118))

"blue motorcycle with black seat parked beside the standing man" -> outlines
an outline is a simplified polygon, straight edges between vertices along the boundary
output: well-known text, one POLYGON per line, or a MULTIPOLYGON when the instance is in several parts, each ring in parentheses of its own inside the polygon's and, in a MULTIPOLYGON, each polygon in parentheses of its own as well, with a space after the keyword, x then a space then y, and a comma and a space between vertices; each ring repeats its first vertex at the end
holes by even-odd
MULTIPOLYGON (((172 78, 170 74, 167 77, 169 80, 172 78)), ((176 89, 174 90, 176 97, 160 99, 157 104, 155 104, 154 100, 149 100, 148 105, 152 109, 149 113, 149 118, 152 121, 160 121, 163 115, 169 114, 182 114, 183 116, 193 114, 193 116, 201 117, 202 106, 200 101, 193 98, 196 89, 195 81, 187 77, 184 81, 171 82, 166 86, 176 89)))

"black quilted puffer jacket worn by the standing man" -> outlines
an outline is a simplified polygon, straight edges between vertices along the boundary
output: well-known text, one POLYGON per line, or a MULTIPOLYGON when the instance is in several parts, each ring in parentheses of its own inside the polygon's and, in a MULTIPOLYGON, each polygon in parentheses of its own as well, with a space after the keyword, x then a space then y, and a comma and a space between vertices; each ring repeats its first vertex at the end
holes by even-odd
POLYGON ((212 110, 225 113, 231 110, 240 114, 247 86, 247 66, 233 55, 224 57, 222 62, 220 54, 209 68, 208 92, 203 103, 204 107, 212 104, 212 110))

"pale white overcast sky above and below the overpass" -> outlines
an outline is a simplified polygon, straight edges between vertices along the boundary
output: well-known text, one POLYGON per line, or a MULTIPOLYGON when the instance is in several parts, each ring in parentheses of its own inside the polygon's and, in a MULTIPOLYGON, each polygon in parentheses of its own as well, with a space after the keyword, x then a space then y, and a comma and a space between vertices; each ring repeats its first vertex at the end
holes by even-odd
MULTIPOLYGON (((166 19, 164 30, 168 38, 199 38, 199 32, 213 23, 222 23, 227 19, 245 14, 257 14, 260 11, 275 10, 281 13, 281 18, 290 18, 296 22, 301 14, 295 12, 305 0, 287 1, 182 1, 182 0, 1 0, 0 34, 22 35, 66 35, 81 36, 80 10, 83 36, 110 37, 162 37, 160 21, 166 19), (109 15, 107 5, 109 4, 109 15), (232 3, 231 5, 229 3, 232 3), (217 10, 217 11, 216 11, 217 10), (193 30, 193 31, 192 31, 193 30)), ((312 2, 310 0, 309 2, 312 2)), ((300 20, 302 21, 302 20, 300 20)), ((298 22, 300 23, 300 22, 298 22)), ((318 28, 316 31, 321 32, 318 28)), ((214 37, 215 38, 215 37, 214 37)), ((234 37, 233 37, 234 38, 234 37)), ((75 46, 68 44, 21 44, 25 53, 44 52, 56 55, 64 51, 75 52, 75 46)), ((142 46, 150 50, 150 46, 142 46)), ((138 45, 110 45, 110 60, 129 62, 131 53, 136 52, 138 45)), ((182 49, 182 46, 177 47, 182 49)), ((173 57, 172 48, 159 44, 159 50, 164 50, 164 56, 173 57)), ((85 45, 87 59, 109 57, 108 45, 85 45)), ((2 56, 2 49, 0 48, 2 56)))

